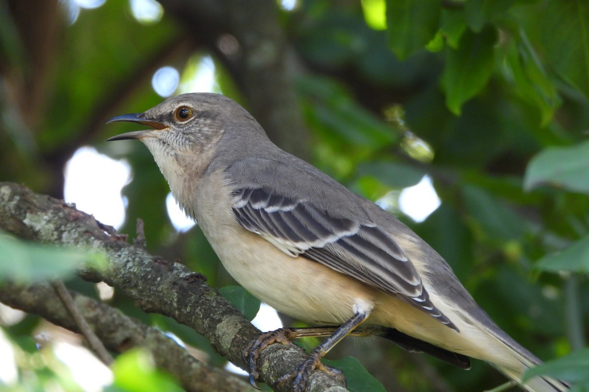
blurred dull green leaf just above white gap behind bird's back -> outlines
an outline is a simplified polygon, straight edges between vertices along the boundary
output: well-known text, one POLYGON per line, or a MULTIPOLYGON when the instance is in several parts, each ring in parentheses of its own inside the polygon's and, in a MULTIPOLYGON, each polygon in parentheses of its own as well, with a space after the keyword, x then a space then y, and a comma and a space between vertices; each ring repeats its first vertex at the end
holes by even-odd
POLYGON ((406 188, 421 181, 427 172, 401 162, 366 162, 360 164, 358 174, 375 177, 393 188, 406 188))

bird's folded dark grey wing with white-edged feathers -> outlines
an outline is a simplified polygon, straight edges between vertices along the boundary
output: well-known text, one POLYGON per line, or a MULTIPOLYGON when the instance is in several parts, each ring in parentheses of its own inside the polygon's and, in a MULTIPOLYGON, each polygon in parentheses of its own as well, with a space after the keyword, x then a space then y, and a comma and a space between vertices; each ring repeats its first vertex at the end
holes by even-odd
POLYGON ((429 300, 411 260, 378 226, 330 216, 309 200, 293 200, 264 187, 237 189, 233 212, 243 227, 283 252, 325 264, 458 330, 429 300))

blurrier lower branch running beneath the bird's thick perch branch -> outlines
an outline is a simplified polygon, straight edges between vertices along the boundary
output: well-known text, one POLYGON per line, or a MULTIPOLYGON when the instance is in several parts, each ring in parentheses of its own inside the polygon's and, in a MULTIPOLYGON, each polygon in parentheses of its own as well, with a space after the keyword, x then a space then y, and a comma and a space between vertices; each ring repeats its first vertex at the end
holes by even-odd
MULTIPOLYGON (((176 377, 187 391, 254 391, 249 383, 239 377, 209 367, 190 356, 188 351, 157 329, 145 326, 100 301, 78 293, 69 293, 75 307, 105 346, 117 352, 131 347, 147 349, 153 354, 155 364, 176 377)), ((24 287, 15 283, 3 283, 0 286, 0 300, 11 307, 39 314, 58 326, 81 333, 49 284, 24 287)))

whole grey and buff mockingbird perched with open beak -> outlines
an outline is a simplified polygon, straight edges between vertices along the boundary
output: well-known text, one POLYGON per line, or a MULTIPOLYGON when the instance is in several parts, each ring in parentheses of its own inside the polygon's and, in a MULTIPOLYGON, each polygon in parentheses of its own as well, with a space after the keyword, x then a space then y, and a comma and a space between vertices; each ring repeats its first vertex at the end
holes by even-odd
POLYGON ((522 373, 540 360, 499 329, 434 249, 379 206, 279 149, 233 100, 184 94, 115 121, 152 128, 108 140, 147 146, 237 282, 284 314, 337 325, 265 334, 250 352, 252 377, 267 344, 329 335, 286 376, 296 376, 294 388, 302 391, 325 353, 365 323, 405 349, 463 368, 469 357, 487 361, 527 391, 568 390, 548 377, 522 384, 522 373))

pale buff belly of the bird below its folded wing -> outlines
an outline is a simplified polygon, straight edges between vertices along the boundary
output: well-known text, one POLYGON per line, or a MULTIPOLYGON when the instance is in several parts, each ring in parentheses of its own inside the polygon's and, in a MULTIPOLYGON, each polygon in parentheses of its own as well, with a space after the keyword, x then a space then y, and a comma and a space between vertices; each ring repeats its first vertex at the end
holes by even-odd
POLYGON ((341 324, 355 304, 374 304, 374 289, 304 257, 291 257, 257 234, 215 252, 227 272, 253 296, 288 316, 341 324), (244 240, 247 239, 247 240, 244 240))

